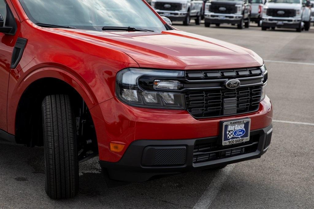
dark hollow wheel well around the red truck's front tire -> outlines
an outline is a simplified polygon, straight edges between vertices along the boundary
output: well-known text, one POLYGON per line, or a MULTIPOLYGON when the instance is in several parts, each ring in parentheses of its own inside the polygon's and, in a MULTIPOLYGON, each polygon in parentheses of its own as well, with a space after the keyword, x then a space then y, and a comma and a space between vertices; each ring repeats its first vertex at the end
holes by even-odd
POLYGON ((24 91, 20 98, 15 118, 16 142, 30 147, 43 146, 41 103, 46 96, 53 94, 67 94, 70 96, 71 105, 76 117, 75 119, 78 121, 78 145, 82 144, 83 146, 85 143, 84 140, 89 140, 89 144, 91 145, 90 142, 92 141, 92 145, 95 151, 97 151, 98 147, 94 123, 83 98, 72 86, 55 78, 37 80, 24 91), (84 113, 84 118, 82 112, 84 113), (84 136, 88 135, 88 138, 84 138, 83 136, 83 130, 81 130, 83 125, 81 125, 81 121, 84 121, 84 124, 88 124, 88 128, 86 128, 85 132, 88 131, 89 133, 84 133, 84 136))

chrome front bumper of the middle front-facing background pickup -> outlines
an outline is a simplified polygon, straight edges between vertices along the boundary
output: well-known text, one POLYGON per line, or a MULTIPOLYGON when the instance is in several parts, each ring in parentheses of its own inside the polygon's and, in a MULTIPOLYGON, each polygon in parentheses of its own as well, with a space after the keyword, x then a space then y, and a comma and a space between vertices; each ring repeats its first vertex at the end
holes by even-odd
POLYGON ((241 22, 242 17, 242 14, 205 13, 205 23, 238 24, 241 22))

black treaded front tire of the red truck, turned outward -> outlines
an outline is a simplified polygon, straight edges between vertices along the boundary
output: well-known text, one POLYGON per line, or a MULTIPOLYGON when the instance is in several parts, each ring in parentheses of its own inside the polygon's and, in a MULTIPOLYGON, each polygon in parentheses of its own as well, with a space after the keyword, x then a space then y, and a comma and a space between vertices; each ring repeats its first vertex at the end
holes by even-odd
POLYGON ((42 102, 47 195, 74 197, 78 192, 76 125, 68 95, 50 95, 42 102))

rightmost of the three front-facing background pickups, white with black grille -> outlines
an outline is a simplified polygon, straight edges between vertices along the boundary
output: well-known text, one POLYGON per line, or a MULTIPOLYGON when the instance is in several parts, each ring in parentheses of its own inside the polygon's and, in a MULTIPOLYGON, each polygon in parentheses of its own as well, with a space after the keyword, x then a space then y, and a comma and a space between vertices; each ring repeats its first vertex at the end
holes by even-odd
POLYGON ((310 29, 311 9, 302 0, 269 0, 263 8, 262 30, 294 28, 310 29))

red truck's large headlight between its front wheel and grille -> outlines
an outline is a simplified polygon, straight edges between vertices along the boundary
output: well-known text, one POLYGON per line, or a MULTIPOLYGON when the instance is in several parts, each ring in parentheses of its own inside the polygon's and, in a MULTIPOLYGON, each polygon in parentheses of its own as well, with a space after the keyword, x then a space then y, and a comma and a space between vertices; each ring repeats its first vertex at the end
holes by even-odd
POLYGON ((182 77, 184 71, 124 69, 116 76, 116 96, 135 107, 183 110, 184 94, 167 92, 179 90, 183 84, 174 79, 182 77))

